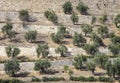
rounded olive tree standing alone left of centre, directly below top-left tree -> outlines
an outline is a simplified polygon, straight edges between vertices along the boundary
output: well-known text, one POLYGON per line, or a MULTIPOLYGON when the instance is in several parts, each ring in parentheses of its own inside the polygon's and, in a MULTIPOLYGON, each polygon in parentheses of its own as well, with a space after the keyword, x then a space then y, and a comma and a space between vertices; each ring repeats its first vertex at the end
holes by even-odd
POLYGON ((24 35, 25 39, 29 42, 35 42, 37 37, 37 31, 28 31, 24 35))

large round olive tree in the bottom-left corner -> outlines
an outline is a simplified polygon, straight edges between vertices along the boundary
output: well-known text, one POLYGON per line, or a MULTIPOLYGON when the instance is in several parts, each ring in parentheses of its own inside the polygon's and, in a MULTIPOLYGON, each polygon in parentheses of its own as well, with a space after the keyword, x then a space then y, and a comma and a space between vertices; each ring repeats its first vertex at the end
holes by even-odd
POLYGON ((20 70, 20 65, 15 59, 6 61, 4 66, 4 70, 9 76, 15 76, 15 74, 20 70))

